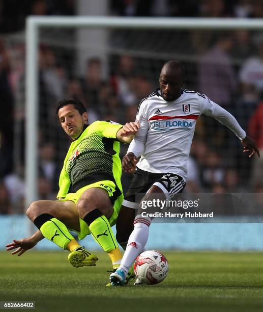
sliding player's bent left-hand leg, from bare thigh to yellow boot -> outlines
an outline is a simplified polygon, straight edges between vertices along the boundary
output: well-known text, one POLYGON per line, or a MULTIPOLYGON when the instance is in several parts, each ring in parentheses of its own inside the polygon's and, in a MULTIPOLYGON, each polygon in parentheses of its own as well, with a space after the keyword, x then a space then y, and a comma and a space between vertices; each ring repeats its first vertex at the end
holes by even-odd
POLYGON ((95 266, 97 256, 81 247, 68 230, 80 230, 79 215, 73 201, 35 201, 28 207, 26 215, 42 235, 57 246, 71 252, 81 250, 79 254, 85 260, 82 266, 95 266))

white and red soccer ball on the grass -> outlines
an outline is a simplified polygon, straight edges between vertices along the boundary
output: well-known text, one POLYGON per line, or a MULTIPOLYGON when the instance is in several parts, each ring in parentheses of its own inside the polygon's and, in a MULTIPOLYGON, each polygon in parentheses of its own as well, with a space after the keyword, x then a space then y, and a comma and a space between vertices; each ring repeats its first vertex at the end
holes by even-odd
POLYGON ((144 284, 154 285, 160 283, 167 276, 168 261, 161 252, 147 250, 137 256, 134 272, 144 284))

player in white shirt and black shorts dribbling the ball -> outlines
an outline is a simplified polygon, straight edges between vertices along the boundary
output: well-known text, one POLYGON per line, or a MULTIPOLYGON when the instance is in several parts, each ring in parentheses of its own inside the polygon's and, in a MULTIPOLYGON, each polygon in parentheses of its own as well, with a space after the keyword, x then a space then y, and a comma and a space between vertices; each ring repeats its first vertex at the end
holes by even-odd
MULTIPOLYGON (((152 219, 141 215, 141 206, 136 203, 135 194, 146 193, 142 200, 149 200, 151 194, 154 196, 160 193, 169 200, 174 194, 183 191, 194 129, 201 114, 211 116, 230 128, 241 140, 244 152, 249 152, 249 157, 255 153, 259 157, 255 142, 246 136, 235 117, 206 95, 183 89, 184 80, 181 63, 165 63, 160 73, 160 89, 144 98, 139 105, 136 116, 139 131, 123 159, 124 171, 133 172, 136 164, 137 170, 123 201, 117 239, 118 231, 123 231, 121 224, 129 231, 130 216, 135 215, 131 212, 137 208, 139 210, 121 266, 110 275, 111 285, 125 284, 129 268, 148 240, 152 219)), ((118 241, 121 243, 120 235, 118 241)))

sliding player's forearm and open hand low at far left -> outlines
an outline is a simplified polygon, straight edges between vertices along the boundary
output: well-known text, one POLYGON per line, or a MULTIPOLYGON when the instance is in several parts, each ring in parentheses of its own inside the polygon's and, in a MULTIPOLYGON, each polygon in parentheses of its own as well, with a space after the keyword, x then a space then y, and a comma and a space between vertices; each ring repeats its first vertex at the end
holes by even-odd
POLYGON ((12 243, 7 244, 7 251, 16 249, 11 254, 18 253, 18 256, 22 255, 26 250, 29 250, 37 245, 39 241, 44 238, 40 230, 37 230, 32 237, 23 238, 21 240, 13 240, 12 243))

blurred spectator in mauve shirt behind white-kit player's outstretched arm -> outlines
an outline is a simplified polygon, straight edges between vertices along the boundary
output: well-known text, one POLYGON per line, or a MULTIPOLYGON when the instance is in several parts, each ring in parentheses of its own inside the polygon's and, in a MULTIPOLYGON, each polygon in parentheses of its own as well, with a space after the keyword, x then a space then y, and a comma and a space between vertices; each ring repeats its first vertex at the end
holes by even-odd
MULTIPOLYGON (((230 113, 233 113, 232 98, 237 88, 235 72, 228 55, 232 45, 231 34, 221 33, 219 39, 203 55, 198 65, 199 91, 230 113)), ((227 143, 229 147, 232 140, 228 140, 228 129, 213 118, 203 117, 203 120, 206 131, 214 133, 213 138, 210 137, 209 145, 221 148, 227 143)))

